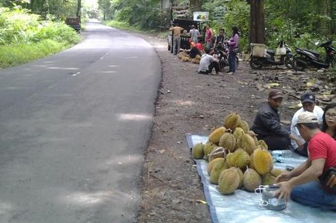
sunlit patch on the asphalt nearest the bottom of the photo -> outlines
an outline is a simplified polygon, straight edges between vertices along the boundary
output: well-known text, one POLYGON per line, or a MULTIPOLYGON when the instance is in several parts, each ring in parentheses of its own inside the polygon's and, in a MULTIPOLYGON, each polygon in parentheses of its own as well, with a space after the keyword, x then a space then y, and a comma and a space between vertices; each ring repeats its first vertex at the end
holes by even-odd
POLYGON ((66 200, 77 205, 96 205, 112 195, 112 192, 100 191, 94 193, 75 192, 66 196, 66 200))

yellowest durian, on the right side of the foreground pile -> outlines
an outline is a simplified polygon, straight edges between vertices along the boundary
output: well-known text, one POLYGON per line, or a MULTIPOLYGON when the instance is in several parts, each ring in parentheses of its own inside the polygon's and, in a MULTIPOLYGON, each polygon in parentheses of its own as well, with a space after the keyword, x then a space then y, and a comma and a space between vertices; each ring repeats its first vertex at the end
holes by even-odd
POLYGON ((262 175, 271 172, 273 169, 272 155, 264 148, 257 148, 253 153, 252 163, 256 172, 262 175))

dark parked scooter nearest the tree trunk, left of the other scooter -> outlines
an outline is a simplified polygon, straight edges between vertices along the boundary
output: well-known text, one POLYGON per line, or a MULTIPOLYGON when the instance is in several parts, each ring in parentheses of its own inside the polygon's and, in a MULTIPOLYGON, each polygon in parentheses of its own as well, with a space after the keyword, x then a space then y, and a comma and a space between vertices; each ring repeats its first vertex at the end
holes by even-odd
POLYGON ((293 60, 293 54, 291 53, 291 49, 288 47, 284 40, 281 40, 279 42, 279 45, 285 48, 285 52, 283 52, 284 54, 280 55, 280 60, 275 60, 275 51, 271 49, 267 49, 263 57, 254 56, 251 53, 249 58, 251 68, 261 69, 263 66, 285 65, 287 66, 287 68, 291 69, 293 60))

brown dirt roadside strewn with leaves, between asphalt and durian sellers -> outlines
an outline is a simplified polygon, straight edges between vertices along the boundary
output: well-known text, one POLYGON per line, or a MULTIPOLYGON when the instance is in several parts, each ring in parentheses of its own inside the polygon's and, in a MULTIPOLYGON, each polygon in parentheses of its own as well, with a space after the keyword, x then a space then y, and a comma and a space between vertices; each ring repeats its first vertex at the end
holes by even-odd
POLYGON ((163 77, 143 167, 138 222, 212 222, 186 133, 208 135, 231 112, 239 112, 252 126, 272 85, 285 92, 280 111, 285 124, 300 107, 302 92, 315 92, 321 107, 335 101, 335 75, 295 73, 285 67, 252 70, 246 61, 240 61, 236 75, 200 75, 198 64, 182 62, 167 51, 166 40, 139 35, 156 50, 163 77))

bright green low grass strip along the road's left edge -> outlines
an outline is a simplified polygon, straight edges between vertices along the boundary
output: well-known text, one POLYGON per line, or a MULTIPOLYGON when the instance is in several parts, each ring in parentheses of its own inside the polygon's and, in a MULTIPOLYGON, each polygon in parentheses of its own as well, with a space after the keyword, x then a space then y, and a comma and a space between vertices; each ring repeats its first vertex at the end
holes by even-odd
POLYGON ((54 40, 41 40, 37 43, 0 46, 0 67, 17 66, 36 60, 69 47, 54 40))

